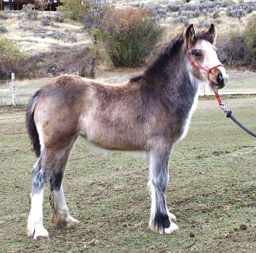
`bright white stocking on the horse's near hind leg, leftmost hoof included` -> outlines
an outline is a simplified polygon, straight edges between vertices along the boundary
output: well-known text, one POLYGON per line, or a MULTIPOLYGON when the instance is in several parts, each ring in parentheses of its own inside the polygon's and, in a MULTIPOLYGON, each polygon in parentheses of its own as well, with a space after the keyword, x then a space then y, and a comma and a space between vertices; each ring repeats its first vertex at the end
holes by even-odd
POLYGON ((27 220, 26 230, 28 236, 33 236, 33 239, 49 239, 49 234, 43 226, 43 198, 44 188, 40 193, 34 194, 31 197, 31 209, 27 220))

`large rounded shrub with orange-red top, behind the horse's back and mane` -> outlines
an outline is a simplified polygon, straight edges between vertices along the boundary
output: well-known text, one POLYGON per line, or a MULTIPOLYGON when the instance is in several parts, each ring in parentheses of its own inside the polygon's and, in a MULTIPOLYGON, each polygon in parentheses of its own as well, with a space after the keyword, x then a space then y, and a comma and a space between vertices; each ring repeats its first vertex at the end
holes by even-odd
POLYGON ((114 12, 114 22, 108 32, 114 66, 137 67, 154 50, 163 29, 149 12, 119 9, 114 12))

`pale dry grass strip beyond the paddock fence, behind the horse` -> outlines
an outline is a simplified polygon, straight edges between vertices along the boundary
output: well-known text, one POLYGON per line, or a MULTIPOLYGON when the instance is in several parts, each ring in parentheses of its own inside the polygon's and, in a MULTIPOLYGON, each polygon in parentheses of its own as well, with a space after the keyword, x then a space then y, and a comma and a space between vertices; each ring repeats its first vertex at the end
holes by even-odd
MULTIPOLYGON (((140 70, 124 69, 117 71, 97 72, 97 80, 106 83, 125 83, 129 76, 140 72, 140 70)), ((250 71, 228 71, 230 80, 227 89, 221 89, 220 94, 256 94, 256 72, 250 71)), ((41 86, 49 83, 53 78, 41 78, 35 80, 17 80, 16 97, 17 104, 26 104, 30 96, 41 86)), ((201 87, 200 95, 204 95, 204 89, 201 87)), ((213 95, 210 89, 206 90, 206 95, 213 95)), ((12 86, 10 81, 0 81, 0 105, 12 105, 12 86)))

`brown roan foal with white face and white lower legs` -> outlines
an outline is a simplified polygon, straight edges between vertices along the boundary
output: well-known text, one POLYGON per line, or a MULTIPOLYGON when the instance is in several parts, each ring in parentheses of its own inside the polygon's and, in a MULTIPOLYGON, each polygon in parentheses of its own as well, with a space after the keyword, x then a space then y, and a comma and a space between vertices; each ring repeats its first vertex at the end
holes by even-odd
MULTIPOLYGON (((187 27, 127 83, 108 84, 75 75, 62 75, 39 89, 29 101, 26 125, 38 160, 32 169, 30 212, 26 232, 33 239, 49 239, 43 226, 43 195, 50 184, 52 223, 75 227, 65 201, 62 178, 78 136, 106 150, 149 152, 148 188, 151 192, 149 227, 175 234, 176 217, 166 204, 169 157, 184 138, 198 101, 198 87, 221 89, 228 80, 224 67, 210 72, 196 68, 220 65, 215 48, 217 31, 187 27)), ((172 184, 172 179, 170 179, 172 184)))

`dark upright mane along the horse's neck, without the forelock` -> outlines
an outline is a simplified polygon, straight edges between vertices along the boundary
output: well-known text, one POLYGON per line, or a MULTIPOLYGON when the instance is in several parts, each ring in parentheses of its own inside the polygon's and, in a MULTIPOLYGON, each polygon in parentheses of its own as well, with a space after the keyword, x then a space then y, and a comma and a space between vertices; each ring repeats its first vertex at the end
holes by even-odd
POLYGON ((156 56, 153 62, 145 69, 143 74, 138 74, 131 76, 130 80, 132 82, 136 82, 142 79, 144 76, 150 76, 153 73, 156 73, 162 66, 166 60, 170 60, 180 49, 180 47, 184 43, 184 35, 183 32, 177 35, 174 39, 172 39, 163 50, 156 56))

